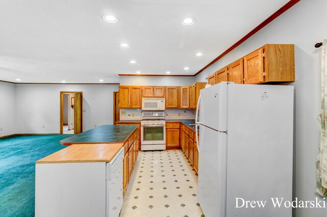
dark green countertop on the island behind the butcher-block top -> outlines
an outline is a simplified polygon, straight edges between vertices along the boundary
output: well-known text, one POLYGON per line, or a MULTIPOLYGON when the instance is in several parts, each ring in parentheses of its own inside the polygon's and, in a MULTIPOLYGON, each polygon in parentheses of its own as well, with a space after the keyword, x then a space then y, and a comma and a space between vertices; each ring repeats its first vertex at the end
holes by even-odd
POLYGON ((61 140, 60 144, 124 143, 136 128, 136 125, 102 125, 61 140))

